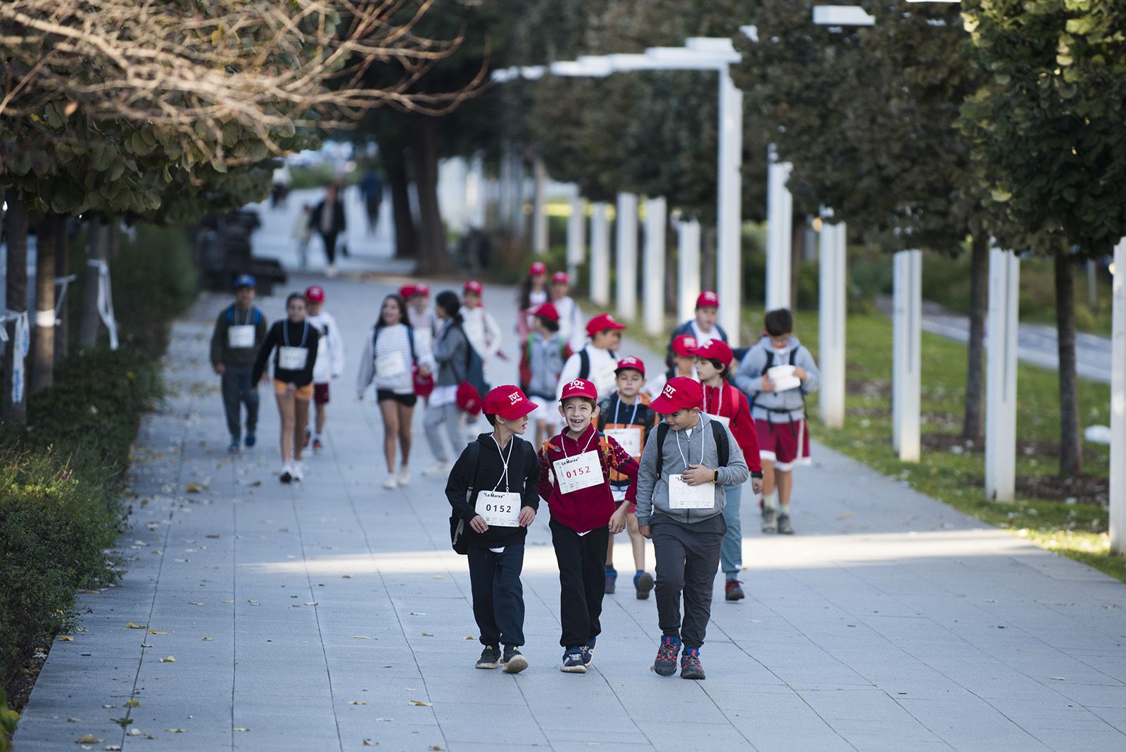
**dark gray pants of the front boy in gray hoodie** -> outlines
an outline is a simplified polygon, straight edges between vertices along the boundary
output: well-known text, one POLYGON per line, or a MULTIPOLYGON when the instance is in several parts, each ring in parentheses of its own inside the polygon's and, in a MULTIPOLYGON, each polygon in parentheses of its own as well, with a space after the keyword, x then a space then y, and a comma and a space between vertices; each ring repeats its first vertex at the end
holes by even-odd
POLYGON ((712 587, 720 566, 723 544, 723 518, 715 532, 711 521, 694 530, 676 522, 652 526, 653 553, 656 556, 656 616, 661 634, 680 637, 685 647, 704 644, 707 621, 712 618, 712 587), (685 618, 680 619, 680 593, 685 594, 685 618))

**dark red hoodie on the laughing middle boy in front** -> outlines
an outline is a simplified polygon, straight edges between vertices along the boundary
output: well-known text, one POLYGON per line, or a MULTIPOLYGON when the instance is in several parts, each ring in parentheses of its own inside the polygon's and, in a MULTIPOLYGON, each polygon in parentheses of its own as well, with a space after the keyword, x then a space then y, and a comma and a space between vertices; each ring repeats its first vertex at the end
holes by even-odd
POLYGON ((552 511, 552 519, 560 525, 565 525, 575 532, 587 532, 596 528, 606 527, 610 522, 610 516, 617 509, 617 502, 610 495, 610 471, 627 476, 631 481, 637 477, 637 460, 626 454, 626 450, 618 446, 614 439, 598 435, 598 429, 593 423, 587 427, 579 440, 566 435, 566 429, 558 436, 552 437, 544 442, 539 450, 539 495, 547 502, 552 511), (571 493, 560 491, 558 481, 552 469, 552 464, 565 457, 574 457, 583 450, 598 450, 598 458, 602 466, 602 483, 587 489, 580 489, 571 493))

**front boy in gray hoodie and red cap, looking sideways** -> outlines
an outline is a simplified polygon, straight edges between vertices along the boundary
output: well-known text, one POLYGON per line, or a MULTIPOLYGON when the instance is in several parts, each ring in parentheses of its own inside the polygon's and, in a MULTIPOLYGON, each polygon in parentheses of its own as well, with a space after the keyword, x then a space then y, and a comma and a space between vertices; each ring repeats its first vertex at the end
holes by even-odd
POLYGON ((731 429, 701 413, 703 402, 699 382, 685 376, 669 379, 650 403, 664 422, 650 432, 637 473, 637 526, 652 538, 656 555, 662 636, 653 671, 662 677, 676 673, 677 654, 683 646, 681 679, 704 679, 700 646, 712 616, 720 546, 727 531, 723 487, 739 485, 750 474, 731 429))

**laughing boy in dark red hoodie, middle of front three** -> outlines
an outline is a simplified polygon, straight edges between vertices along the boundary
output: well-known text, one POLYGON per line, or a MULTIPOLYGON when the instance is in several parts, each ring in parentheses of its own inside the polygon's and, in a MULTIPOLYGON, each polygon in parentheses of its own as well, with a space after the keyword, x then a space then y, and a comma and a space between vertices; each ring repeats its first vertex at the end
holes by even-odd
POLYGON ((560 566, 560 621, 564 673, 586 673, 602 630, 606 594, 606 546, 610 532, 626 527, 627 502, 615 502, 610 471, 631 481, 637 460, 593 424, 598 391, 577 378, 563 386, 560 399, 563 431, 548 439, 539 453, 539 495, 552 519, 552 545, 560 566))

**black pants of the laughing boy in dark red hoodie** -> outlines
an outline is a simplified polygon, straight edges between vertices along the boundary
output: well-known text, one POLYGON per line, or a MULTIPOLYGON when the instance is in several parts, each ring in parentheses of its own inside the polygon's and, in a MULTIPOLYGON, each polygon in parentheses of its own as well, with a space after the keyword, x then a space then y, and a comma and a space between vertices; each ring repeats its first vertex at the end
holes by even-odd
POLYGON ((602 632, 598 619, 606 596, 606 545, 610 528, 579 535, 565 525, 551 521, 552 545, 560 565, 560 645, 578 647, 602 632))

